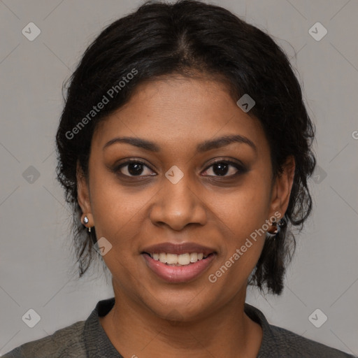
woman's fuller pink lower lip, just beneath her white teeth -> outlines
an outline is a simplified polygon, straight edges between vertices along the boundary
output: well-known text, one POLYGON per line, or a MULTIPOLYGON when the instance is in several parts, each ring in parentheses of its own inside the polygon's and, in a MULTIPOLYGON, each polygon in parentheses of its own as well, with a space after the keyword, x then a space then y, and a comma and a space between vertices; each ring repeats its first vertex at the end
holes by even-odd
POLYGON ((142 254, 147 266, 156 273, 159 278, 170 283, 189 282, 197 278, 210 266, 215 254, 212 253, 206 259, 201 259, 194 264, 185 266, 169 266, 160 261, 152 259, 148 254, 142 254))

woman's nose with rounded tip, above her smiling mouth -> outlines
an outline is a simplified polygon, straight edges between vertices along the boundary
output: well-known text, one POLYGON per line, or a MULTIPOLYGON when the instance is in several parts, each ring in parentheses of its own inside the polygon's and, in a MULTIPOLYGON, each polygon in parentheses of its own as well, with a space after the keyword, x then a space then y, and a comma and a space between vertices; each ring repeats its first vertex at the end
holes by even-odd
POLYGON ((184 175, 176 184, 166 177, 163 178, 162 187, 151 206, 150 220, 156 226, 167 225, 176 231, 182 230, 188 224, 206 223, 206 203, 189 180, 189 176, 184 175))

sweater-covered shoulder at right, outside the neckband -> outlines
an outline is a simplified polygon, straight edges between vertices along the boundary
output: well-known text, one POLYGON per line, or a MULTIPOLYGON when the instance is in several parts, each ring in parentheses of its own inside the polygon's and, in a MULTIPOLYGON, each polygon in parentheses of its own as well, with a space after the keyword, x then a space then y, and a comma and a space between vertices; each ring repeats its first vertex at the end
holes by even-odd
POLYGON ((287 329, 273 325, 270 325, 270 329, 277 349, 284 352, 286 357, 354 358, 353 355, 304 338, 287 329))

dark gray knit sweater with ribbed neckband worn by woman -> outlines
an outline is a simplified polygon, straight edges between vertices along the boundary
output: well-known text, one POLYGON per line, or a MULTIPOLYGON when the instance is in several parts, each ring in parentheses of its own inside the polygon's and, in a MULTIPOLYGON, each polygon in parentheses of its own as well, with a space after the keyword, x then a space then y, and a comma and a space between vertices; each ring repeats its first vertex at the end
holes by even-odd
MULTIPOLYGON (((106 315, 114 303, 114 298, 99 301, 87 320, 59 329, 45 338, 24 343, 2 358, 123 358, 110 343, 99 322, 99 316, 106 315)), ((248 303, 245 303, 245 313, 260 324, 263 330, 262 345, 257 358, 354 357, 268 324, 264 314, 248 303)))

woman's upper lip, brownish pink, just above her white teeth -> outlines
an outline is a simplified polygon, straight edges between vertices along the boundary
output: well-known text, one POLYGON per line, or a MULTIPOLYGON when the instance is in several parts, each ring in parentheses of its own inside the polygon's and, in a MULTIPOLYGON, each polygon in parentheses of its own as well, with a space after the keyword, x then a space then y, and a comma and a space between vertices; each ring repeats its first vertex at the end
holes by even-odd
MULTIPOLYGON (((209 255, 215 252, 213 248, 208 248, 198 243, 157 243, 143 249, 143 252, 148 254, 166 252, 167 254, 180 255, 192 252, 203 252, 204 255, 209 255)), ((143 253, 142 252, 142 253, 143 253)))

